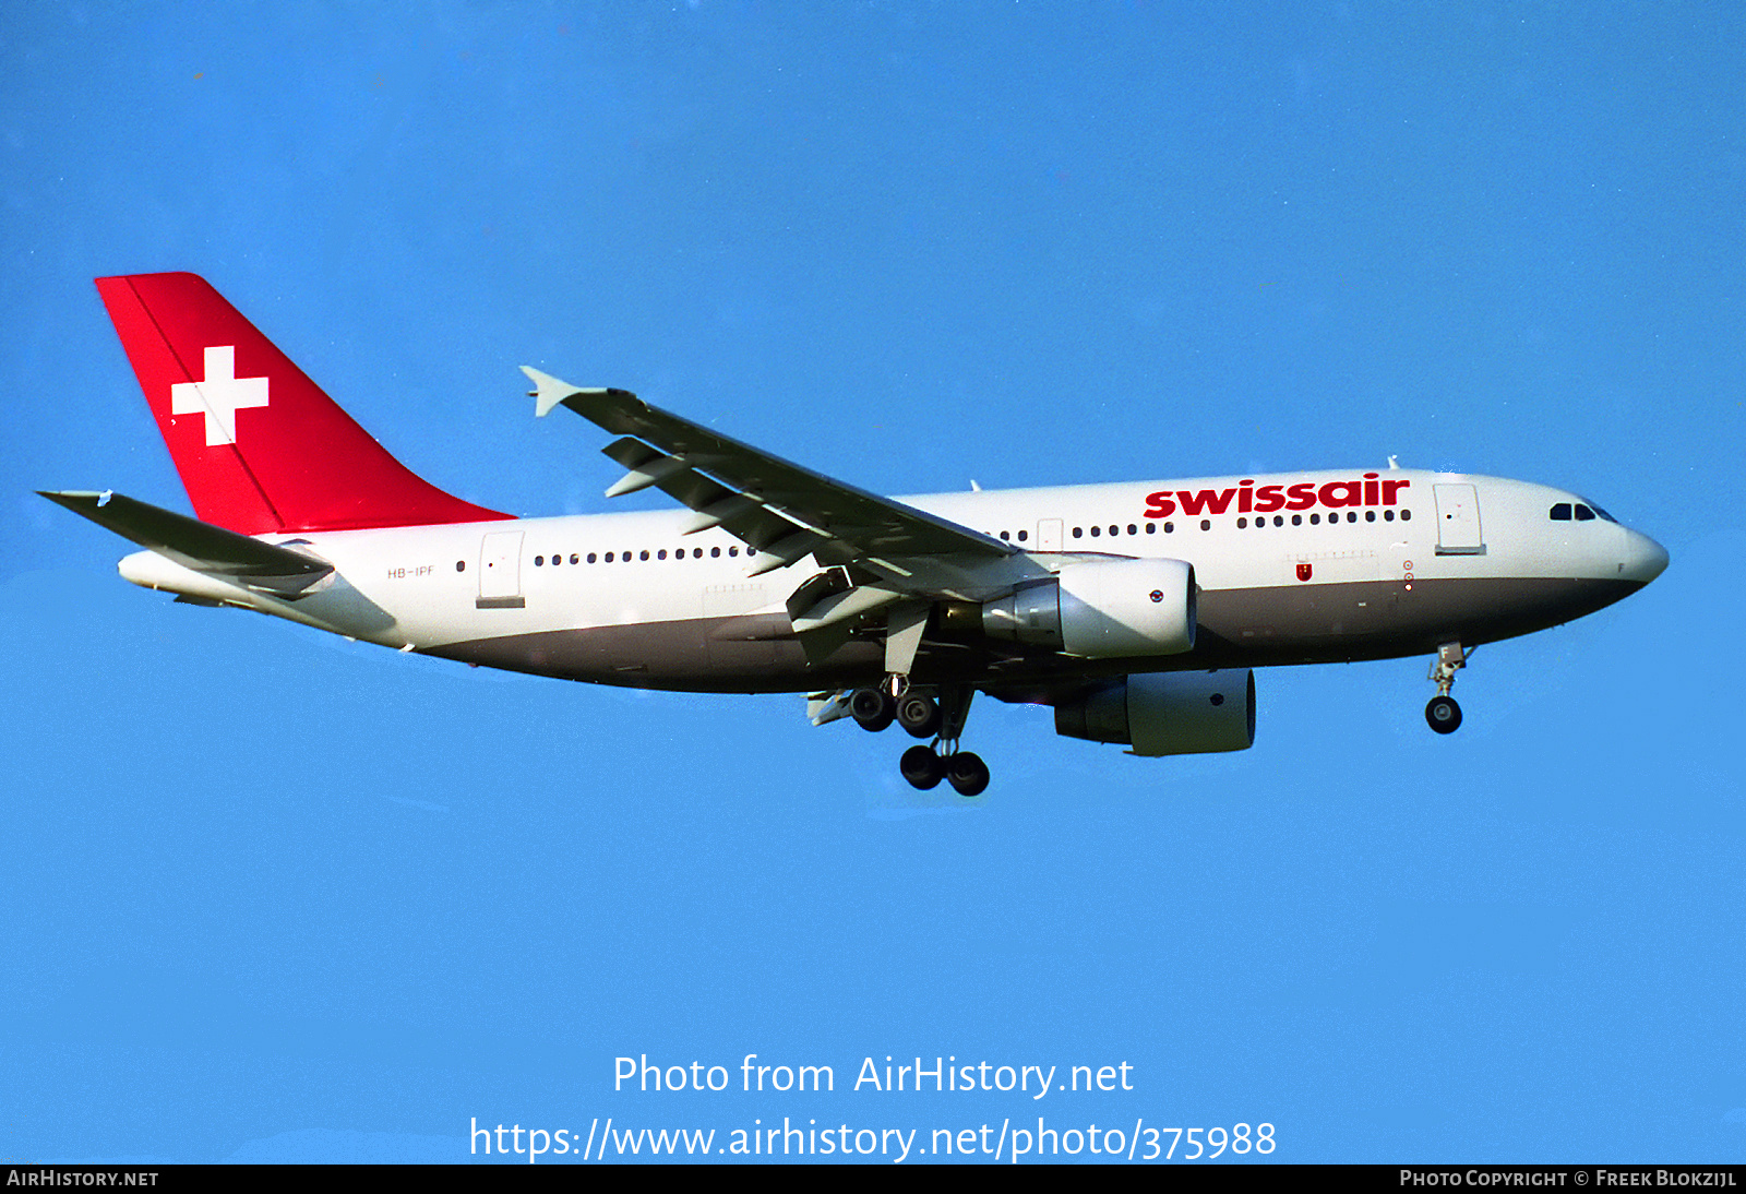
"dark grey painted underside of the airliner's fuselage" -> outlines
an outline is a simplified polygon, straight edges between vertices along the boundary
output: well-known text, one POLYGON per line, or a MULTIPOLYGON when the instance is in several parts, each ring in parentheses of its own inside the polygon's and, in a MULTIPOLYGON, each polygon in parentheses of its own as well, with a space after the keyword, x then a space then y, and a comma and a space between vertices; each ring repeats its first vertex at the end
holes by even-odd
MULTIPOLYGON (((1439 644, 1477 646, 1543 630, 1610 606, 1634 581, 1475 578, 1351 581, 1303 588, 1227 588, 1200 595, 1194 649, 1084 660, 992 639, 929 637, 915 684, 973 684, 1009 698, 1130 672, 1343 663, 1430 655, 1439 644)), ((793 693, 870 684, 883 672, 876 637, 850 639, 817 665, 782 614, 690 618, 471 639, 430 648, 463 663, 559 679, 693 693, 793 693)))

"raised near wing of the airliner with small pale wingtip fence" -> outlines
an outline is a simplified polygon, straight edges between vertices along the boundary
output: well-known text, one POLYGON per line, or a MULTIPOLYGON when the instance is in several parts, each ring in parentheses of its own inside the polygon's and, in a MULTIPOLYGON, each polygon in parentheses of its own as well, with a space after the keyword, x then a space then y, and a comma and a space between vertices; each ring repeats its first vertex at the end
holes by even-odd
POLYGON ((758 552, 753 576, 812 555, 908 576, 915 557, 997 560, 1009 543, 870 494, 651 407, 625 389, 581 389, 522 367, 534 412, 564 405, 613 435, 604 452, 629 471, 608 498, 650 485, 697 511, 686 534, 721 527, 758 552))

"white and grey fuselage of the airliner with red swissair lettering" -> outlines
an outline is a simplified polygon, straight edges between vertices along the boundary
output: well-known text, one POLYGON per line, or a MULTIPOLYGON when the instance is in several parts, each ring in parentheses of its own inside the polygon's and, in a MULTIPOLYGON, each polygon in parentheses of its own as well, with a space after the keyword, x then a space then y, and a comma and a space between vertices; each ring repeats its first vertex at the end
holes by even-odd
MULTIPOLYGON (((1088 555, 1191 562, 1208 642, 1173 662, 1135 662, 1137 670, 1379 658, 1435 649, 1440 635, 1509 637, 1617 600, 1666 566, 1653 541, 1605 515, 1552 518, 1559 504, 1592 508, 1575 494, 1416 470, 901 501, 1013 543, 1035 574, 1088 555)), ((817 571, 814 560, 747 576, 749 548, 719 529, 684 536, 686 518, 655 511, 260 536, 333 564, 333 576, 299 600, 150 552, 127 557, 122 574, 396 649, 571 679, 704 691, 822 686, 829 677, 782 642, 784 602, 817 571), (763 630, 721 635, 760 620, 763 630), (658 662, 639 663, 639 649, 658 662)), ((959 588, 973 600, 1016 576, 1013 560, 959 564, 959 588)))

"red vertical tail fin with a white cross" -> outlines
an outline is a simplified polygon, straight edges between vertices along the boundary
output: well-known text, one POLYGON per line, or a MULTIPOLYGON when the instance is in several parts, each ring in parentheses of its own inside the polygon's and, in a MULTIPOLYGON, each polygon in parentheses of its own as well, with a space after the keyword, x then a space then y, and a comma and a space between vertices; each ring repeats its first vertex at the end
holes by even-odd
POLYGON ((194 274, 98 278, 204 522, 241 534, 510 515, 424 482, 194 274))

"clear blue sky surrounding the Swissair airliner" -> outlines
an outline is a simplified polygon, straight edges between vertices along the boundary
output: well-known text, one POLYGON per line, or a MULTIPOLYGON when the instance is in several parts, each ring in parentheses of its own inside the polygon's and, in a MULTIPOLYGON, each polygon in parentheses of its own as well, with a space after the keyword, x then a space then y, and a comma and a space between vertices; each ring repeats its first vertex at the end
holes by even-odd
MULTIPOLYGON (((19 9, 0 38, 0 1156, 464 1159, 470 1119, 1273 1122, 1280 1159, 1734 1159, 1743 16, 1725 5, 19 9), (1404 464, 1673 566, 1257 677, 1245 754, 980 703, 917 798, 796 696, 190 609, 91 278, 206 276, 409 466, 606 510, 611 384, 883 492, 1404 464), (829 1096, 613 1093, 613 1058, 829 1096), (864 1056, 1128 1093, 875 1096, 864 1056), (1056 1121, 1056 1117, 1060 1117, 1056 1121)), ((658 496, 625 508, 656 506, 658 496)))

